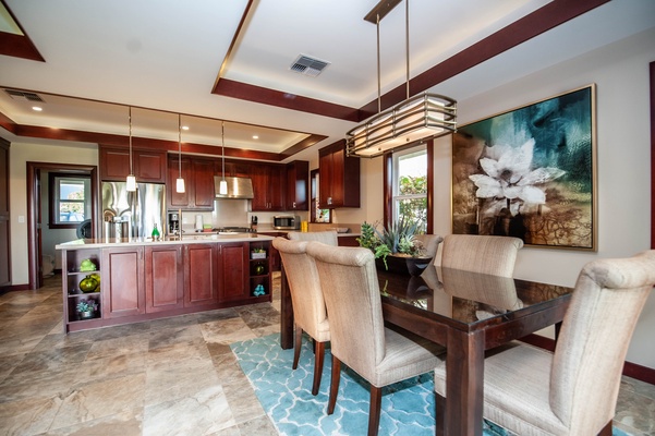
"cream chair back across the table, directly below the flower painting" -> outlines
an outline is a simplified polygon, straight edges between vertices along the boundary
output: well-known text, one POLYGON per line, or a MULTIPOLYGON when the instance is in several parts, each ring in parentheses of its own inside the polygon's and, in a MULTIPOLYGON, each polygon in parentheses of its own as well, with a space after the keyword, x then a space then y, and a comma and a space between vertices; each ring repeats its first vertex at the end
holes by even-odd
POLYGON ((444 238, 441 266, 512 277, 523 241, 512 237, 448 234, 444 238))

